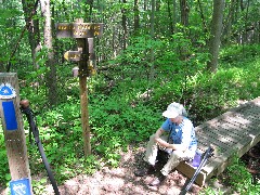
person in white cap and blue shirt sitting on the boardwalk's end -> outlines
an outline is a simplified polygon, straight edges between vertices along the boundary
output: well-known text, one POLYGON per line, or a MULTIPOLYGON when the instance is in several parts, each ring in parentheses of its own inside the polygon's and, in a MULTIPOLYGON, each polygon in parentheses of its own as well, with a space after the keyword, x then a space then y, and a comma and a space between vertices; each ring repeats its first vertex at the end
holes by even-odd
POLYGON ((171 150, 167 164, 150 185, 159 185, 166 177, 183 160, 192 160, 197 148, 197 140, 192 121, 186 118, 186 110, 182 104, 171 103, 167 110, 162 113, 167 120, 150 136, 144 161, 145 168, 134 172, 136 177, 143 177, 155 172, 157 152, 159 150, 171 150), (164 136, 164 132, 169 132, 169 139, 164 136))

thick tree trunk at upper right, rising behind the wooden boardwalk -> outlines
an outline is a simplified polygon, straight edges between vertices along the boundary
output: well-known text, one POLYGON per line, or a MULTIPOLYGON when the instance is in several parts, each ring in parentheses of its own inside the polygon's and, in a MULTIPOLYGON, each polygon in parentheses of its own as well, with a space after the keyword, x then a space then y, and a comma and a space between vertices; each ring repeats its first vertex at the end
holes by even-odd
POLYGON ((213 14, 211 22, 211 38, 209 40, 209 53, 211 55, 210 62, 208 63, 208 70, 214 73, 218 68, 218 57, 220 48, 220 37, 222 31, 224 0, 213 1, 213 14))

